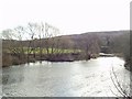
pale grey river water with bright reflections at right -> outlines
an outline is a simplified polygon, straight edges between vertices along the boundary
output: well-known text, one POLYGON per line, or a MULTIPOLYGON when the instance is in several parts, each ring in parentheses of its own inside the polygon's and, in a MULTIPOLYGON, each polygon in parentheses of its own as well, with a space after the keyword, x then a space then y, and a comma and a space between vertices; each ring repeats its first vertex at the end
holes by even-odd
POLYGON ((36 62, 6 67, 2 91, 7 97, 114 97, 117 76, 129 92, 130 73, 119 57, 98 57, 79 62, 36 62))

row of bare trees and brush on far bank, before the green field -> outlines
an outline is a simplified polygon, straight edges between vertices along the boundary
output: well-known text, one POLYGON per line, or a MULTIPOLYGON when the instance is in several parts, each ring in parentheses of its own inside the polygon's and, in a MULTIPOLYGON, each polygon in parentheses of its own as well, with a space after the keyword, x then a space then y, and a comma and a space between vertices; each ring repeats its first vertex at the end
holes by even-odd
POLYGON ((89 59, 99 54, 98 36, 58 36, 59 30, 47 23, 29 23, 2 31, 3 66, 37 61, 89 59), (77 41, 77 42, 76 42, 77 41))

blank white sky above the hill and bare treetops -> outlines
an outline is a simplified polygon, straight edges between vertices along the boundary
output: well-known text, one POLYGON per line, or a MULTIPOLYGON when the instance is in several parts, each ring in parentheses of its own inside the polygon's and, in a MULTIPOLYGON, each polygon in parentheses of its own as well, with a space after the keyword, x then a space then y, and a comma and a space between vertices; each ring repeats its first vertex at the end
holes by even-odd
POLYGON ((47 22, 75 34, 130 29, 131 0, 1 0, 0 31, 47 22))

